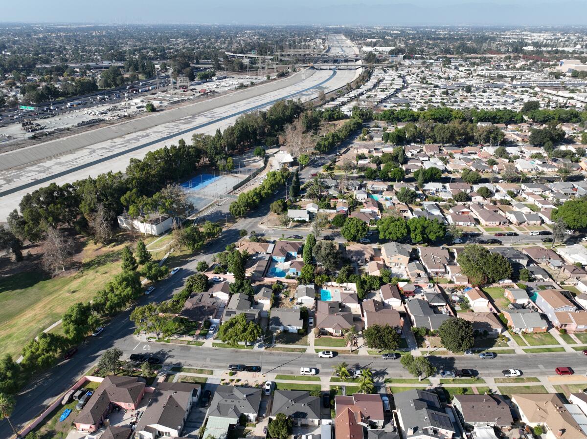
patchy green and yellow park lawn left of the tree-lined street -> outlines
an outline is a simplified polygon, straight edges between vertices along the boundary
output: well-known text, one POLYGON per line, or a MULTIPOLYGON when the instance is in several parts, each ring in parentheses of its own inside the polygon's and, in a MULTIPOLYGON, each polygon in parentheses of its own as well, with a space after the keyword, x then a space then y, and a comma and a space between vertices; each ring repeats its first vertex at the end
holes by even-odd
MULTIPOLYGON (((120 273, 120 250, 83 259, 80 270, 50 278, 40 270, 2 278, 0 284, 0 355, 18 357, 22 346, 58 321, 76 302, 86 302, 120 273)), ((83 254, 97 247, 89 243, 83 254)))

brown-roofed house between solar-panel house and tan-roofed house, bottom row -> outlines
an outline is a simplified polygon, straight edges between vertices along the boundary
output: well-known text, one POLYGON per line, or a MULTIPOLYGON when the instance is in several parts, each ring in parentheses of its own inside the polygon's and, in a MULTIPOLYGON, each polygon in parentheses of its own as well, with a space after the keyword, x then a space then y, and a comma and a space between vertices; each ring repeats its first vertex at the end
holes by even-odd
POLYGON ((511 427, 510 404, 501 395, 455 395, 453 407, 468 427, 511 427))

